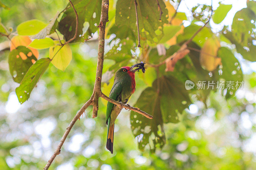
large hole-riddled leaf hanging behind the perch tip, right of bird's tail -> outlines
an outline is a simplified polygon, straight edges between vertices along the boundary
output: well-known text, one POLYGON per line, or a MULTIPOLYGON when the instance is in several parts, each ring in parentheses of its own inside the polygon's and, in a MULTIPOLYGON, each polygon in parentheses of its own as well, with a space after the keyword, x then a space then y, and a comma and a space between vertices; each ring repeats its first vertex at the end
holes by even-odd
POLYGON ((148 87, 141 93, 135 107, 139 107, 154 117, 148 119, 136 112, 131 112, 131 128, 138 140, 139 149, 144 150, 149 144, 151 152, 155 152, 156 146, 162 148, 165 144, 160 96, 155 89, 148 87))

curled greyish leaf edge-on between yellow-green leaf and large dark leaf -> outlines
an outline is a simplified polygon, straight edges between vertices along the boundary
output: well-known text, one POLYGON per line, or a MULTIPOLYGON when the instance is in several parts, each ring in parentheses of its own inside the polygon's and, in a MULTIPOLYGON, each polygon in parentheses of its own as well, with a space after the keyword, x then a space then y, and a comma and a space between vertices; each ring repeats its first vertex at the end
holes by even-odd
POLYGON ((54 33, 54 31, 55 31, 55 29, 58 25, 58 21, 57 21, 58 16, 59 16, 59 13, 57 13, 55 15, 55 17, 52 18, 52 20, 49 22, 49 24, 44 29, 42 29, 39 33, 32 36, 31 38, 33 38, 33 39, 44 39, 47 35, 50 35, 50 34, 54 33))

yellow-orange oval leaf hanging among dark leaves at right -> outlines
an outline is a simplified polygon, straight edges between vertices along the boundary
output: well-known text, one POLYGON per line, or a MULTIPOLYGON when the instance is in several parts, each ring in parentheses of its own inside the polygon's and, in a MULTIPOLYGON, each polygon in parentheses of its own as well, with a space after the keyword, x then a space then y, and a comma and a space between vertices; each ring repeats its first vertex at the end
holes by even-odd
POLYGON ((217 57, 220 41, 216 38, 208 38, 200 53, 200 64, 208 71, 213 71, 221 63, 221 58, 217 57))

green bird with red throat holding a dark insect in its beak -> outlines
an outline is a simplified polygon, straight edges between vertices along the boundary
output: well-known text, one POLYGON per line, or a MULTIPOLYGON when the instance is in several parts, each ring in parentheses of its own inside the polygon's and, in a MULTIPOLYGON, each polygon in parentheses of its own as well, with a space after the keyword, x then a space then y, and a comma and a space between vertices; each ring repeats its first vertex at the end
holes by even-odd
MULTIPOLYGON (((142 62, 143 63, 143 62, 142 62)), ((109 98, 127 103, 128 99, 135 91, 135 78, 134 74, 136 71, 143 69, 141 63, 132 65, 131 67, 125 66, 121 67, 115 73, 114 85, 109 94, 109 98), (136 68, 138 67, 138 68, 136 68), (133 68, 136 68, 132 70, 133 68)), ((119 107, 113 103, 108 102, 107 104, 107 113, 106 113, 106 124, 108 125, 107 131, 107 149, 113 154, 113 140, 114 140, 114 126, 116 117, 119 115, 123 107, 119 107)))

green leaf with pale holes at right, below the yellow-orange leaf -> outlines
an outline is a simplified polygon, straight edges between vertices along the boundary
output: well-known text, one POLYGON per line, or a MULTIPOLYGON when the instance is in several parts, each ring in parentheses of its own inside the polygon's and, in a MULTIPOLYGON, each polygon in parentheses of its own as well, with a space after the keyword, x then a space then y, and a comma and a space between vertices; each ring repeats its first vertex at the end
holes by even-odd
POLYGON ((228 84, 232 85, 231 88, 227 88, 226 98, 229 98, 235 95, 237 88, 241 85, 243 73, 238 60, 228 48, 221 47, 218 50, 218 56, 222 63, 222 67, 219 69, 220 78, 226 81, 225 88, 228 84))

